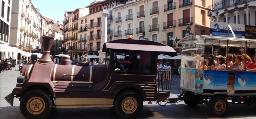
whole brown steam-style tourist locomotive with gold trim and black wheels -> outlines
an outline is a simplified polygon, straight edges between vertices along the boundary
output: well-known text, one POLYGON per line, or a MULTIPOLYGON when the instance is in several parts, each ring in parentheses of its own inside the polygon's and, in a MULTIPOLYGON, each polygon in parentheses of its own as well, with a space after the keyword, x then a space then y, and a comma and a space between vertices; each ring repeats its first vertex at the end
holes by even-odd
POLYGON ((24 117, 46 118, 53 108, 114 105, 118 116, 134 118, 142 110, 143 101, 160 102, 169 98, 169 92, 157 92, 155 69, 157 55, 175 52, 171 47, 154 41, 120 39, 104 44, 105 65, 84 62, 71 65, 68 55, 63 56, 57 65, 49 57, 53 39, 42 36, 43 56, 34 64, 24 66, 13 92, 5 97, 11 105, 14 97, 20 98, 20 111, 24 117), (116 70, 122 68, 117 66, 117 52, 130 55, 133 52, 140 58, 131 60, 129 71, 116 70), (132 66, 134 63, 138 66, 132 66))

